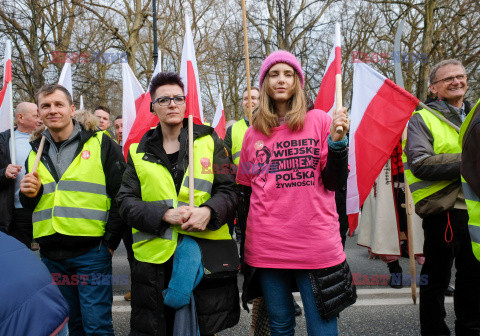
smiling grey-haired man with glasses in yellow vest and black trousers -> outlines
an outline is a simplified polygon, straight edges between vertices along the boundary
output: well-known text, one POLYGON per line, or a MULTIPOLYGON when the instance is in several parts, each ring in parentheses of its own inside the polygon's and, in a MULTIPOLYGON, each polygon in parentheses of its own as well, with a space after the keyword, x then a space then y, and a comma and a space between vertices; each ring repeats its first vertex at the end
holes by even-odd
MULTIPOLYGON (((427 105, 460 127, 470 111, 464 100, 467 74, 457 60, 432 67, 427 105)), ((468 213, 460 182, 461 147, 457 130, 427 110, 408 125, 405 176, 423 218, 425 264, 420 281, 422 335, 450 335, 445 323, 445 290, 455 260, 455 331, 480 333, 480 263, 472 253, 468 213)))

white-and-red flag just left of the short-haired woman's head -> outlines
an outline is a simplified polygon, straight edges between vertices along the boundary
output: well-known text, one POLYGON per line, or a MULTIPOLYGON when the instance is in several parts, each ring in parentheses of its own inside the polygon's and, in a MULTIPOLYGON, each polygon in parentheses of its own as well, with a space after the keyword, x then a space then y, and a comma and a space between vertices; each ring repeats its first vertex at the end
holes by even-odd
MULTIPOLYGON (((159 57, 160 59, 160 57, 159 57)), ((161 72, 160 60, 157 62, 152 78, 161 72)), ((128 156, 128 149, 132 143, 138 143, 145 132, 152 127, 157 126, 158 117, 150 111, 152 99, 150 92, 145 92, 135 77, 128 63, 122 63, 123 78, 123 109, 122 109, 122 127, 123 127, 123 153, 125 160, 128 156)), ((151 79, 150 79, 151 82, 151 79)), ((149 85, 150 87, 150 85, 149 85)))

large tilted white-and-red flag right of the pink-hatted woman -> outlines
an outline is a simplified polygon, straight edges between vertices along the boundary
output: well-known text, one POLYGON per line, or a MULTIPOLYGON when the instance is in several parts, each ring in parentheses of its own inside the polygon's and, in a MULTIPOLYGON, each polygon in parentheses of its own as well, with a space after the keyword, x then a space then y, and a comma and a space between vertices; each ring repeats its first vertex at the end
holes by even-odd
POLYGON ((347 182, 350 232, 375 179, 397 146, 418 98, 366 64, 354 64, 347 182))

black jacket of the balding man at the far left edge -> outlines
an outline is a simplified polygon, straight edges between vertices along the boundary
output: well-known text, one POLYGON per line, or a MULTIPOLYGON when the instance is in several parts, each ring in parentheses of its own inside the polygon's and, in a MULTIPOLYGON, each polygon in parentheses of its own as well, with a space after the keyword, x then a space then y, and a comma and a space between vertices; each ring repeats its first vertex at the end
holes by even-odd
POLYGON ((9 141, 10 130, 0 133, 0 230, 3 232, 8 232, 12 225, 15 189, 15 180, 5 177, 5 170, 12 163, 9 141))

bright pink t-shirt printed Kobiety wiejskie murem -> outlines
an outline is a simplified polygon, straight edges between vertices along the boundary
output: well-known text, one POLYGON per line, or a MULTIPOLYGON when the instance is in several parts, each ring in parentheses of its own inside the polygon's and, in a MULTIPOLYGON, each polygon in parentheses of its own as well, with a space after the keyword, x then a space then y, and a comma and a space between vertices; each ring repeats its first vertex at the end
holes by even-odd
POLYGON ((287 125, 270 137, 250 127, 237 182, 252 188, 245 261, 254 267, 319 269, 345 260, 335 193, 325 189, 331 118, 307 113, 303 130, 287 125))

